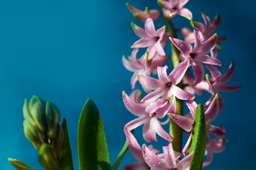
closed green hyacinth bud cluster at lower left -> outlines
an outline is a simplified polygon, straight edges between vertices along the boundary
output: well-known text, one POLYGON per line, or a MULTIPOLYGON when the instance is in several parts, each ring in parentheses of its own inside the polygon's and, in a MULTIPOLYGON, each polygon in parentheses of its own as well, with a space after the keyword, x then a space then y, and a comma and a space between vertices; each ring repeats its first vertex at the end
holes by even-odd
POLYGON ((39 161, 46 169, 58 169, 63 142, 63 129, 59 125, 60 112, 55 104, 33 96, 23 106, 24 133, 39 151, 39 161))

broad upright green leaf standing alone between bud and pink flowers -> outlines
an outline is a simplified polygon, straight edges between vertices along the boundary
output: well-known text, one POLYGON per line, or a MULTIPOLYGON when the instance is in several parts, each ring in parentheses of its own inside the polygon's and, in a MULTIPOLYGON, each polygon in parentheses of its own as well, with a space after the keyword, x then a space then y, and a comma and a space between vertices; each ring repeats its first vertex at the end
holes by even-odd
POLYGON ((110 169, 110 157, 102 118, 97 106, 90 98, 82 108, 78 123, 78 160, 80 170, 110 169))

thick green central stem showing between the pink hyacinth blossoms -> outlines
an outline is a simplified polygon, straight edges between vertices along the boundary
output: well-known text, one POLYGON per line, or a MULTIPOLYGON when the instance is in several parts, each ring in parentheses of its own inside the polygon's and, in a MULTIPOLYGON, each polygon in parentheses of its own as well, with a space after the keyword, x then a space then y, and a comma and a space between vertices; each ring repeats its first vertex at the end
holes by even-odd
MULTIPOLYGON (((171 36, 172 38, 176 38, 174 26, 172 26, 171 21, 166 16, 164 16, 164 20, 166 21, 167 27, 169 29, 169 36, 171 36)), ((179 50, 175 47, 173 43, 171 43, 171 52, 171 60, 173 62, 173 66, 176 67, 181 61, 178 58, 179 50)), ((177 84, 177 86, 183 89, 182 81, 177 84)), ((183 115, 183 101, 179 100, 178 98, 176 98, 176 114, 183 115)), ((183 130, 173 120, 170 121, 169 134, 171 135, 171 137, 174 138, 174 141, 172 142, 174 152, 181 152, 182 131, 183 130)))

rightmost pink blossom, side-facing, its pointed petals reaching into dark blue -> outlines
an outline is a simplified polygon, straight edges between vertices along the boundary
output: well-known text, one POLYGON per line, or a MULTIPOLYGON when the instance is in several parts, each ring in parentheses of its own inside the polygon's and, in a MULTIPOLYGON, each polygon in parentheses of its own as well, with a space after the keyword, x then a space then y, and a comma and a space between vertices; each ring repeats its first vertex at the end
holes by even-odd
MULTIPOLYGON (((206 66, 206 68, 209 69, 210 71, 211 77, 213 78, 210 78, 208 74, 206 74, 206 81, 209 85, 209 92, 212 94, 212 96, 206 102, 206 105, 204 106, 204 108, 208 108, 210 102, 213 100, 213 96, 215 96, 215 94, 218 93, 218 91, 233 92, 241 88, 241 86, 226 84, 233 76, 234 67, 235 65, 232 60, 230 67, 228 68, 228 71, 224 75, 222 75, 217 68, 211 65, 206 66)), ((224 101, 222 96, 220 95, 219 95, 219 99, 220 99, 219 110, 222 111, 224 107, 224 101)))

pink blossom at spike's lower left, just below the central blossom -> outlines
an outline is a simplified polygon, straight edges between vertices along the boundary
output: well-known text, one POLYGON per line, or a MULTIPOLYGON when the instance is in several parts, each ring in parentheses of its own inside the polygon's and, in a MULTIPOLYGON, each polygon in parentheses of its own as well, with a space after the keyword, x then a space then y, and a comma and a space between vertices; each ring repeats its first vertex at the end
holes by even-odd
MULTIPOLYGON (((163 137, 165 140, 173 141, 173 138, 164 130, 164 128, 161 127, 156 113, 152 115, 146 113, 145 108, 147 106, 147 103, 136 103, 135 101, 132 101, 132 99, 129 98, 129 96, 127 96, 124 91, 122 96, 124 106, 128 109, 128 111, 139 117, 127 123, 127 125, 124 126, 124 130, 131 131, 139 127, 140 125, 144 125, 142 133, 146 142, 157 141, 156 133, 159 136, 163 137)), ((132 98, 136 98, 136 101, 139 101, 139 99, 141 99, 141 96, 133 94, 132 98)))

